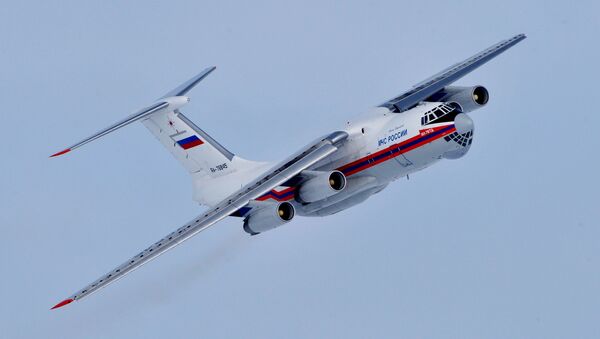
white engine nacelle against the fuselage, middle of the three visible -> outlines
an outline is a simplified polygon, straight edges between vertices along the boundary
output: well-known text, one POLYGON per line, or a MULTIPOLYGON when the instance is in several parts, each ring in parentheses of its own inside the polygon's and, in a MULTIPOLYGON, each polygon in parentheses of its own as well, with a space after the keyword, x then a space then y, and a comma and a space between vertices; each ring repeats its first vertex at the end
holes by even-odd
POLYGON ((302 202, 327 199, 346 187, 346 176, 340 171, 304 171, 302 173, 312 177, 304 182, 298 190, 298 199, 302 202))

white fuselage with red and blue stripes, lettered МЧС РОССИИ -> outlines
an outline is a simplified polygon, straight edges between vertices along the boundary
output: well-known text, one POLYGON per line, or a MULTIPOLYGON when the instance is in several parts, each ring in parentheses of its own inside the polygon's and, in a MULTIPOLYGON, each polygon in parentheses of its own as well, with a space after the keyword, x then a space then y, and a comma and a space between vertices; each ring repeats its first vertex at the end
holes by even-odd
MULTIPOLYGON (((343 131, 348 134, 346 141, 313 167, 323 173, 342 172, 346 177, 343 190, 306 203, 298 195, 299 187, 279 186, 256 199, 250 208, 287 201, 301 216, 326 216, 342 211, 363 202, 390 182, 442 158, 461 157, 470 147, 473 124, 466 114, 445 103, 424 102, 402 113, 376 107, 347 121, 343 131)), ((240 161, 245 160, 233 158, 234 164, 240 161)), ((273 164, 253 163, 253 166, 210 181, 195 181, 195 192, 215 201, 224 199, 258 174, 271 170, 273 164)))

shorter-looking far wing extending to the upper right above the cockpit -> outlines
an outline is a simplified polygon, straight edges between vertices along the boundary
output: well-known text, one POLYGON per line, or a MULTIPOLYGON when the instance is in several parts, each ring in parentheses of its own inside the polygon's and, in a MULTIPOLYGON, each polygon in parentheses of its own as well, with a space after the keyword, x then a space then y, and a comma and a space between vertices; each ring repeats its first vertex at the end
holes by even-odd
POLYGON ((418 104, 420 101, 425 100, 429 96, 441 90, 445 86, 448 86, 456 80, 471 73, 479 66, 492 60, 500 53, 516 45, 525 38, 525 34, 519 34, 515 35, 514 37, 508 40, 500 41, 499 43, 491 46, 490 48, 483 50, 482 52, 479 52, 473 55, 472 57, 457 64, 454 64, 446 68, 445 70, 437 73, 436 75, 421 81, 420 83, 414 85, 413 88, 409 91, 391 100, 388 100, 379 106, 387 107, 391 111, 396 113, 406 111, 407 109, 418 104))

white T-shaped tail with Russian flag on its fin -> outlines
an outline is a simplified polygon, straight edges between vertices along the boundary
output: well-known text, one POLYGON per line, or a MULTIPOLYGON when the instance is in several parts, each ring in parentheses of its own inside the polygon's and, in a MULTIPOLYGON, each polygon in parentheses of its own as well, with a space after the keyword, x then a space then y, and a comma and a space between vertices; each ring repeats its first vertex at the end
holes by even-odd
POLYGON ((151 105, 50 157, 66 154, 121 127, 141 121, 190 173, 194 200, 207 206, 214 205, 268 167, 267 163, 236 156, 181 113, 180 108, 190 101, 185 95, 215 69, 213 66, 203 70, 151 105))

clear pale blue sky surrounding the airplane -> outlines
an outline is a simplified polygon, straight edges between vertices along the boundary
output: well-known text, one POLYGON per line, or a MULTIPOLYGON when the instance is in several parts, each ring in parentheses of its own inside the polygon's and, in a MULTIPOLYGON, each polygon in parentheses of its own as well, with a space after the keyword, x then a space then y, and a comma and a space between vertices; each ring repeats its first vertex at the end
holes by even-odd
POLYGON ((600 5, 558 3, 4 2, 0 337, 598 338, 600 5), (49 311, 201 208, 140 124, 48 155, 216 65, 184 112, 279 160, 518 33, 459 82, 491 94, 464 158, 49 311))

